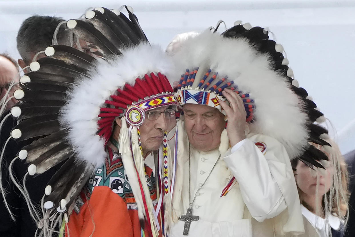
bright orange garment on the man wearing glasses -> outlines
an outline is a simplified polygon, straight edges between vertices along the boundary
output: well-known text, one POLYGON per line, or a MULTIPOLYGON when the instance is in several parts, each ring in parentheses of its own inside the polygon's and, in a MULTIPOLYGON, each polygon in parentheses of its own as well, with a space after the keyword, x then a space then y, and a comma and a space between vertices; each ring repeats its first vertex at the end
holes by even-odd
MULTIPOLYGON (((148 167, 146 167, 148 168, 148 167)), ((148 168, 149 169, 149 168, 148 168)), ((156 194, 154 195, 156 198, 156 194)), ((162 228, 159 214, 159 237, 162 228)), ((144 235, 150 228, 145 225, 144 235)), ((137 210, 127 210, 126 202, 107 186, 94 187, 91 197, 69 217, 67 237, 141 237, 141 225, 137 210), (68 235, 69 231, 69 235, 68 235)))

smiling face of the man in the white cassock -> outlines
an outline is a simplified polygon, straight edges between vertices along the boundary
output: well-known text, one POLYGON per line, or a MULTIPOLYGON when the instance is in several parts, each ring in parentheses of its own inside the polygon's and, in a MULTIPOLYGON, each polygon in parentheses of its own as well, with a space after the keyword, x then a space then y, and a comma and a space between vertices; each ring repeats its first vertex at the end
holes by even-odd
POLYGON ((208 105, 185 104, 183 110, 190 143, 199 151, 217 149, 225 127, 224 115, 208 105))

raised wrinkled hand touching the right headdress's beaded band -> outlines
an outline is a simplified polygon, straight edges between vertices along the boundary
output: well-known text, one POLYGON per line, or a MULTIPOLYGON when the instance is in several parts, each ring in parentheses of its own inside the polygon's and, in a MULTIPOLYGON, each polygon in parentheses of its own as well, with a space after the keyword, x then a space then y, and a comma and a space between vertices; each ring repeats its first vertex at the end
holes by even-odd
POLYGON ((243 100, 238 94, 230 89, 224 89, 222 94, 230 104, 230 106, 228 106, 226 102, 219 100, 219 104, 225 110, 228 117, 227 134, 230 145, 233 147, 235 144, 246 138, 246 111, 243 100))

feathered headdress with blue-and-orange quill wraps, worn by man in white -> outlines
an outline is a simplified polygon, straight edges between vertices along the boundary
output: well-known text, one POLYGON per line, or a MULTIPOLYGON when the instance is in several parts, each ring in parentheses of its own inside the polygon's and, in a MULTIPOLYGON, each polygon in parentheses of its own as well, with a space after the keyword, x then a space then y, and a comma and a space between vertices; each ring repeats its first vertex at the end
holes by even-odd
POLYGON ((218 100, 231 89, 243 99, 246 121, 252 133, 281 142, 290 159, 322 167, 327 156, 308 145, 308 140, 329 145, 327 130, 316 123, 323 114, 294 79, 283 46, 270 40, 268 31, 239 22, 222 35, 210 30, 181 42, 173 53, 181 76, 175 96, 180 105, 204 104, 224 113, 218 100), (188 56, 187 56, 188 55, 188 56))

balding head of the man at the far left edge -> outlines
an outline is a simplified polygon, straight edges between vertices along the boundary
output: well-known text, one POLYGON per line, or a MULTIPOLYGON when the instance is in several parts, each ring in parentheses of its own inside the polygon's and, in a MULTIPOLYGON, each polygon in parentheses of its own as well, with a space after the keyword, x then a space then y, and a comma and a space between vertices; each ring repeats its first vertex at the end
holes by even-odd
MULTIPOLYGON (((10 61, 10 59, 0 55, 0 87, 1 87, 0 99, 2 99, 5 96, 7 89, 9 88, 9 84, 13 79, 18 81, 17 67, 12 61, 10 61)), ((12 93, 13 90, 11 90, 10 96, 12 95, 12 93)), ((8 107, 11 107, 15 103, 16 103, 15 99, 9 101, 8 107)))

